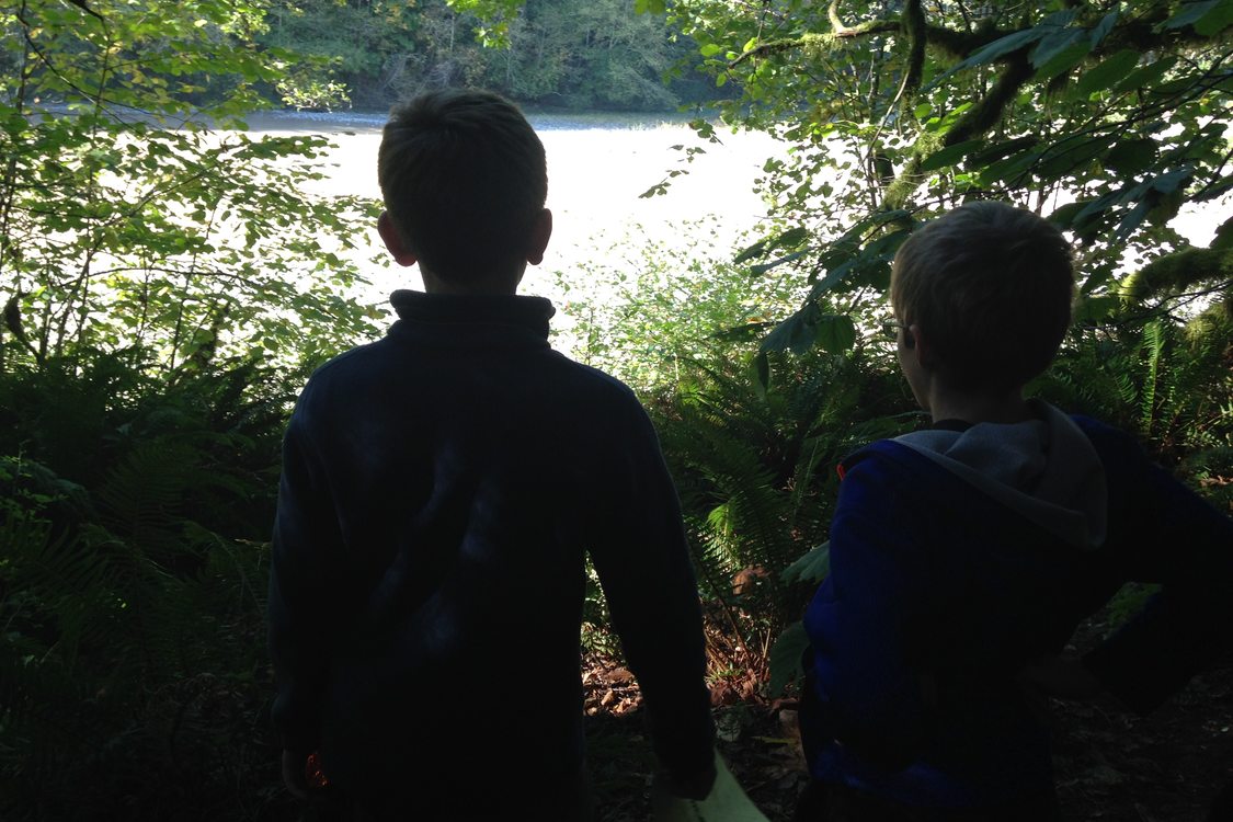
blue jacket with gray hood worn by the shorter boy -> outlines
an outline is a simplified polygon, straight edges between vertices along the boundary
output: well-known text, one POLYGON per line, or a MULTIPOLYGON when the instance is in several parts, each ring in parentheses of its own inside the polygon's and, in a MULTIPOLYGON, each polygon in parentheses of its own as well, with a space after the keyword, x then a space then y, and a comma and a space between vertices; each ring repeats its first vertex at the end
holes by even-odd
POLYGON ((845 462, 831 574, 805 616, 815 778, 921 808, 1047 808, 1025 664, 1131 580, 1161 589, 1085 659, 1129 707, 1152 710, 1229 647, 1233 520, 1126 434, 1037 410, 845 462))

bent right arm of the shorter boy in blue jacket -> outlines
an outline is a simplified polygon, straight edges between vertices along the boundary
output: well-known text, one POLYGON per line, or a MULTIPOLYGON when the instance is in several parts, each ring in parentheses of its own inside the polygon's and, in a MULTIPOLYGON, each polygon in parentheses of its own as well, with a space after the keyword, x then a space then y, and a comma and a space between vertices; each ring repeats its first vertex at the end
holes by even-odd
POLYGON ((1106 466, 1110 498, 1120 503, 1110 516, 1122 520, 1110 523, 1121 535, 1110 546, 1113 560, 1128 579, 1161 588, 1083 662, 1145 714, 1233 645, 1233 520, 1149 465, 1137 446, 1118 452, 1124 463, 1106 466))

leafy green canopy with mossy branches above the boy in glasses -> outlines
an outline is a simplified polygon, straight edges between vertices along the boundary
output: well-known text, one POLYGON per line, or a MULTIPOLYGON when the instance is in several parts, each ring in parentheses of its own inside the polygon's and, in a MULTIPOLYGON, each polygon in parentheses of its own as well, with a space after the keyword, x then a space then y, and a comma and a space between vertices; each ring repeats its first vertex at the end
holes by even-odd
POLYGON ((969 197, 1069 230, 1097 297, 1127 255, 1185 248, 1169 221, 1233 186, 1228 4, 682 0, 670 21, 716 84, 740 89, 725 117, 790 145, 762 185, 805 253, 750 256, 813 288, 766 349, 816 338, 811 306, 835 295, 880 302, 919 218, 969 197))

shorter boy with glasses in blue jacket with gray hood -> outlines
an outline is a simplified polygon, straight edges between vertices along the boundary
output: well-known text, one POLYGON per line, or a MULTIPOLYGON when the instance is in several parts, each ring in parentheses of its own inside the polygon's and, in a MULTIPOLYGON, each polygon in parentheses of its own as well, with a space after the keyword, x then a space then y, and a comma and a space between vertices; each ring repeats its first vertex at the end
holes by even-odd
POLYGON ((1227 646, 1233 520, 1122 431, 1023 398, 1073 293, 1060 232, 1002 203, 957 208, 896 255, 899 364, 933 424, 842 465, 805 616, 815 781, 798 818, 1055 820, 1039 693, 1147 712, 1227 646), (1161 589, 1059 658, 1128 580, 1161 589))

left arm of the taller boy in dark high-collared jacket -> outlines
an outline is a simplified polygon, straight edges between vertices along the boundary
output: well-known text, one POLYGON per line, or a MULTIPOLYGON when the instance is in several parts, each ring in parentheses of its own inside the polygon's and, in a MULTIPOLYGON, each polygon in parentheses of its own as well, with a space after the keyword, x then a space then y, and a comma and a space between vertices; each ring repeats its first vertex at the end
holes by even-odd
POLYGON ((301 763, 321 742, 321 699, 332 629, 327 609, 333 599, 327 556, 340 539, 333 502, 297 413, 282 444, 269 645, 277 686, 274 725, 284 748, 301 763))

